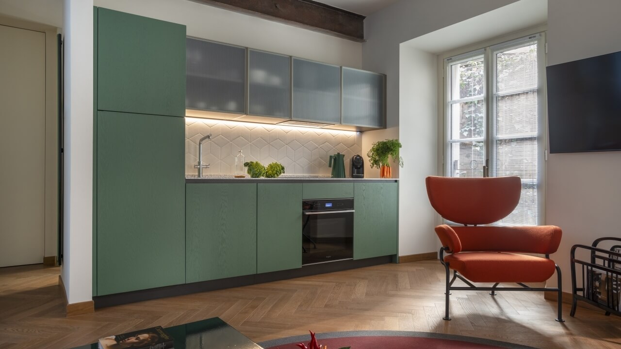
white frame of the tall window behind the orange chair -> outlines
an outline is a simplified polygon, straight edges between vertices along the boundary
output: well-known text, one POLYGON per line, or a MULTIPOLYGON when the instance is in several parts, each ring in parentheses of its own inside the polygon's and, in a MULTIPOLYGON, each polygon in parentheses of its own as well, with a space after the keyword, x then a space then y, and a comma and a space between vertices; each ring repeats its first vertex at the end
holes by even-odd
MULTIPOLYGON (((450 107, 452 104, 456 102, 467 102, 472 100, 481 99, 480 97, 469 97, 465 99, 460 99, 456 101, 450 101, 451 91, 451 81, 450 81, 450 65, 454 63, 460 63, 463 61, 471 60, 471 58, 478 57, 483 55, 483 69, 485 72, 484 79, 484 88, 483 88, 483 101, 484 101, 484 123, 483 123, 483 143, 484 143, 484 156, 486 160, 489 160, 491 163, 494 161, 494 154, 492 152, 492 142, 494 141, 494 121, 495 118, 494 106, 493 103, 494 98, 496 97, 496 75, 494 74, 494 66, 492 66, 494 61, 494 55, 496 52, 501 52, 514 47, 521 47, 525 42, 537 42, 538 48, 538 61, 537 61, 537 70, 538 70, 538 86, 537 86, 537 103, 538 103, 538 178, 537 178, 537 195, 538 195, 538 215, 537 215, 537 225, 543 224, 545 222, 545 177, 546 177, 546 168, 545 161, 547 158, 547 140, 546 140, 546 129, 547 129, 547 104, 546 104, 546 40, 545 40, 545 32, 538 32, 537 34, 526 35, 524 37, 520 37, 519 39, 509 40, 501 43, 496 43, 494 45, 487 45, 484 48, 480 48, 478 50, 471 50, 466 53, 461 53, 459 55, 452 55, 451 57, 443 59, 443 76, 445 79, 442 79, 443 84, 443 161, 442 171, 444 176, 450 176, 450 173, 447 173, 448 168, 450 168, 449 150, 448 145, 455 142, 464 142, 468 140, 479 140, 479 138, 461 138, 458 140, 451 140, 450 137, 450 107)), ((515 138, 514 136, 511 138, 515 138)), ((487 164, 489 166, 489 164, 487 164)), ((489 166, 489 175, 494 176, 494 166, 489 166)))

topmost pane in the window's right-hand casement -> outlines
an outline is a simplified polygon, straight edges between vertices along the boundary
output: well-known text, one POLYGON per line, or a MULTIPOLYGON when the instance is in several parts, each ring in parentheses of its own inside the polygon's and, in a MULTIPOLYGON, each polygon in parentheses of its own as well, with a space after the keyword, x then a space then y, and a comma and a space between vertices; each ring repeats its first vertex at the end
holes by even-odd
POLYGON ((537 43, 496 53, 496 93, 537 86, 537 43))

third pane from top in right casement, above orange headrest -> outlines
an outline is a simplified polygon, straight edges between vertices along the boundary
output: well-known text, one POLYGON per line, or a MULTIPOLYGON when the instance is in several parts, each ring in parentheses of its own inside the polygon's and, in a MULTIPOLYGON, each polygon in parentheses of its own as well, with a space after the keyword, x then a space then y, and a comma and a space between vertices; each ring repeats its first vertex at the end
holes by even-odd
POLYGON ((519 176, 537 181, 537 138, 496 140, 494 147, 494 176, 519 176))

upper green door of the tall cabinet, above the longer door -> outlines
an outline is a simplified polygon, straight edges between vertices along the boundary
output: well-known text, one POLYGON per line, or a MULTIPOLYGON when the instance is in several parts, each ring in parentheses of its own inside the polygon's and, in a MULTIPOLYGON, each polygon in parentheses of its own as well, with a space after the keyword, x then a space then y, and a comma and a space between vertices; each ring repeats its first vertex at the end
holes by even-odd
POLYGON ((97 109, 185 116, 186 26, 98 9, 97 109))

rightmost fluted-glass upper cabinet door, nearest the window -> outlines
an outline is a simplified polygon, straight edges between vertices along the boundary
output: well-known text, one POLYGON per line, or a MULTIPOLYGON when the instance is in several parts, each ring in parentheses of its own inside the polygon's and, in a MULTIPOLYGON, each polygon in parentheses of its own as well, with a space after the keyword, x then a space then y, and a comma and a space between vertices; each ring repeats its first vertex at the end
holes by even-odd
POLYGON ((343 67, 343 124, 386 127, 383 74, 343 67))

